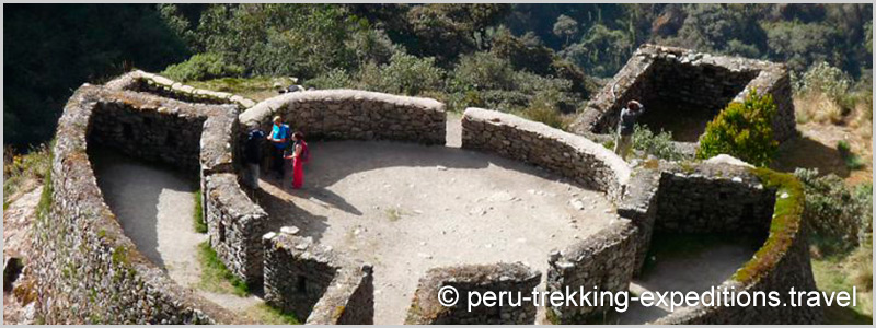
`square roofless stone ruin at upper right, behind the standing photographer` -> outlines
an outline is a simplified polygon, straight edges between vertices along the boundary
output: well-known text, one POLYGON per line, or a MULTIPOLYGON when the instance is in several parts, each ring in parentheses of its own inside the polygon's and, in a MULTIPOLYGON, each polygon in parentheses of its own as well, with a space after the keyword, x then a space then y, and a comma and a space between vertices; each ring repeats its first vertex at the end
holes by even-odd
POLYGON ((672 132, 677 149, 693 154, 706 122, 752 90, 772 95, 779 108, 775 139, 793 138, 794 103, 784 63, 645 44, 593 96, 572 129, 600 140, 611 138, 604 134, 616 129, 621 108, 637 99, 646 108, 638 124, 654 132, 672 132))

